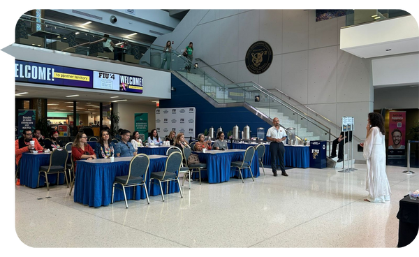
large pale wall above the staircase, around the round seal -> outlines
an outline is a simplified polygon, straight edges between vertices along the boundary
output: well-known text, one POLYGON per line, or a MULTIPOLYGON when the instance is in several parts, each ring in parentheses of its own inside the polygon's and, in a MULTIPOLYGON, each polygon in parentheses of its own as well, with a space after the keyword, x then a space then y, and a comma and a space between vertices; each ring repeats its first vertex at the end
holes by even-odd
POLYGON ((284 91, 338 125, 341 117, 354 117, 355 135, 364 138, 367 114, 373 111, 371 61, 339 49, 345 25, 345 17, 316 22, 316 10, 302 7, 191 8, 171 34, 154 43, 175 41, 180 51, 192 41, 194 58, 235 82, 284 91), (250 73, 244 62, 256 41, 269 43, 274 53, 270 68, 260 75, 250 73))

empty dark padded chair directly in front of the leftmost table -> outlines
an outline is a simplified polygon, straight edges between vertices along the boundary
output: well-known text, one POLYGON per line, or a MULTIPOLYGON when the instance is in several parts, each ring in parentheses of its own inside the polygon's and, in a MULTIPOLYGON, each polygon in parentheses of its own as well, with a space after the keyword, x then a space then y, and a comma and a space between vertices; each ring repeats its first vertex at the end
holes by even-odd
POLYGON ((61 173, 64 174, 66 178, 66 184, 68 187, 68 180, 66 175, 67 170, 67 159, 68 159, 68 151, 64 147, 58 147, 55 149, 50 156, 50 164, 47 166, 39 167, 38 173, 38 187, 39 187, 39 178, 40 176, 45 177, 45 182, 47 183, 47 190, 50 190, 50 183, 48 183, 48 175, 50 174, 57 174, 57 184, 59 182, 59 175, 61 173))

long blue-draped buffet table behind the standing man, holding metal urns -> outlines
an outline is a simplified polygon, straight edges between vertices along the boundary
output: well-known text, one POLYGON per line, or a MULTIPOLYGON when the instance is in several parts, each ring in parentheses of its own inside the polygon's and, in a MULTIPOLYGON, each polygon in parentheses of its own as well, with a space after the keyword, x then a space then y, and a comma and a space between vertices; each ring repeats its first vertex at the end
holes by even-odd
MULTIPOLYGON (((256 144, 247 143, 228 143, 228 147, 233 149, 247 149, 249 146, 256 147, 256 144)), ((265 145, 265 154, 263 155, 263 165, 271 165, 271 157, 269 144, 265 145)), ((295 168, 309 168, 310 167, 310 147, 304 145, 285 145, 284 165, 295 168)))

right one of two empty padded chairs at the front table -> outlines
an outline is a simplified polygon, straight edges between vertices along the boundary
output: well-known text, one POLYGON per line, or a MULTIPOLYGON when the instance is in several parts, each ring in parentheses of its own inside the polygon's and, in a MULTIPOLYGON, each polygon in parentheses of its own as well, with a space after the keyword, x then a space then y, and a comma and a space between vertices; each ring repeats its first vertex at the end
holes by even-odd
POLYGON ((152 172, 150 174, 150 183, 157 184, 159 182, 161 190, 161 199, 164 202, 164 193, 161 182, 166 182, 166 193, 169 191, 169 182, 176 181, 179 186, 180 197, 183 198, 182 189, 179 184, 179 170, 182 165, 182 154, 179 152, 172 152, 166 160, 166 167, 163 171, 152 172))

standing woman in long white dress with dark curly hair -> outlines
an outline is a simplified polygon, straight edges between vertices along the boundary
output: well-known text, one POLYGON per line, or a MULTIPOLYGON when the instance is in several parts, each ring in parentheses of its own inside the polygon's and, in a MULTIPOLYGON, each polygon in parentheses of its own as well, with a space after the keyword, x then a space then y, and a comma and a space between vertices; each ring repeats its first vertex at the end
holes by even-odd
POLYGON ((390 200, 391 190, 385 173, 384 119, 379 113, 368 114, 367 138, 360 145, 364 147, 364 158, 367 159, 368 197, 364 200, 385 203, 390 200))

